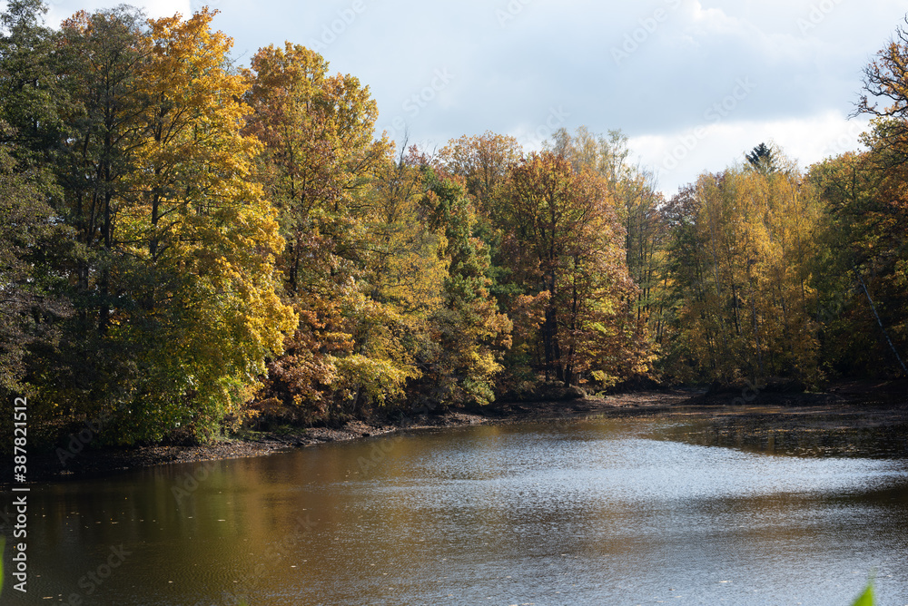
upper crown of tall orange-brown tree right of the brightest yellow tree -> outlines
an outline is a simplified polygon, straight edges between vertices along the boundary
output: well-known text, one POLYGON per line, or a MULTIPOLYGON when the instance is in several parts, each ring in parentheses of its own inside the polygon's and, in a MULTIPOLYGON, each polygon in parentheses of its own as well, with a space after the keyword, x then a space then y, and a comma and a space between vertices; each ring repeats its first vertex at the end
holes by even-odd
POLYGON ((389 150, 371 139, 378 112, 369 88, 327 72, 321 55, 290 43, 262 48, 246 72, 247 132, 265 145, 260 178, 288 236, 283 263, 291 296, 321 279, 308 263, 350 271, 344 266, 358 254, 358 197, 389 150), (320 243, 328 257, 312 248, 320 243), (307 260, 313 255, 314 263, 307 260))

